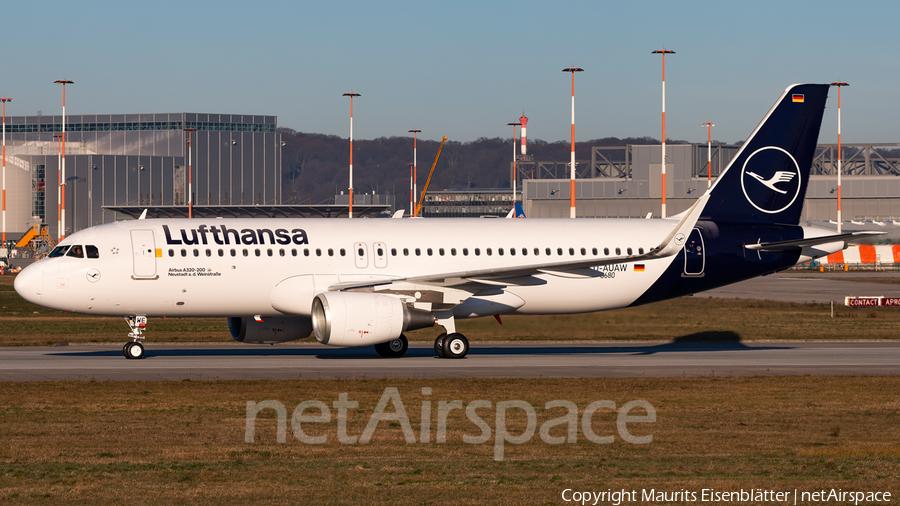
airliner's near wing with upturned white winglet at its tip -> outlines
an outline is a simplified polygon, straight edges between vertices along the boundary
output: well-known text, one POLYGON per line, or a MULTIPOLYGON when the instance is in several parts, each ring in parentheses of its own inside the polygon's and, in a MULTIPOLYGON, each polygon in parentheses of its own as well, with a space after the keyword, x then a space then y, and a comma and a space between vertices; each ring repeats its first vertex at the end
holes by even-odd
MULTIPOLYGON (((694 225, 700 217, 704 205, 708 199, 708 194, 700 197, 697 202, 688 209, 678 224, 663 239, 663 241, 643 255, 631 256, 615 256, 606 258, 591 258, 579 260, 567 260, 562 262, 545 262, 540 264, 530 264, 526 266, 516 267, 494 267, 490 269, 476 269, 470 271, 447 272, 441 274, 429 274, 427 276, 412 276, 407 278, 397 278, 391 280, 382 280, 377 282, 360 282, 360 283, 339 283, 329 287, 331 290, 348 290, 358 289, 368 286, 379 286, 391 283, 412 283, 418 285, 432 285, 447 288, 459 288, 465 290, 466 285, 488 285, 495 286, 501 284, 516 284, 516 278, 533 276, 535 274, 553 274, 562 277, 592 277, 601 275, 600 272, 592 271, 591 267, 601 267, 604 265, 622 264, 622 263, 640 263, 658 258, 666 258, 677 254, 684 246, 684 242, 693 230, 694 225), (504 280, 510 280, 504 283, 504 280)), ((474 287, 473 287, 474 288, 474 287)))

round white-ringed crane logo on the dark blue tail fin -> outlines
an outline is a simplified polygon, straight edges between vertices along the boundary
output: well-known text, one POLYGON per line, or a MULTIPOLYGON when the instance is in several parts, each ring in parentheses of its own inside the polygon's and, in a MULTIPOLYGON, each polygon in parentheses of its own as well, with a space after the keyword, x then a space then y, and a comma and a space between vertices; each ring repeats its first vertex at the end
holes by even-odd
POLYGON ((750 205, 767 214, 791 207, 800 195, 800 166, 782 148, 759 148, 744 162, 741 189, 750 205))

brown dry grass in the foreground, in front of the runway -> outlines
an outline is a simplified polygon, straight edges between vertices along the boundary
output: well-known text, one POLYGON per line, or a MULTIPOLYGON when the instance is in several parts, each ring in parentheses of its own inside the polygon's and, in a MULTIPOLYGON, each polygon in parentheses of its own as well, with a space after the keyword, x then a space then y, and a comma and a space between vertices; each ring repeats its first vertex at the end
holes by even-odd
MULTIPOLYGON (((900 483, 900 378, 378 380, 178 383, 0 384, 0 502, 11 504, 558 504, 560 492, 772 488, 887 490, 900 483), (276 443, 272 411, 247 444, 247 401, 274 399, 291 410, 304 400, 331 406, 342 392, 359 402, 348 433, 359 435, 388 386, 397 387, 418 435, 423 400, 517 399, 537 408, 538 427, 563 414, 643 399, 657 421, 634 425, 647 445, 616 436, 550 445, 535 435, 505 446, 462 442, 479 429, 453 411, 447 443, 408 444, 382 422, 369 444, 336 441, 336 423, 308 424, 321 445, 300 443, 288 427, 276 443), (425 397, 422 387, 432 387, 425 397), (852 392, 852 395, 849 394, 852 392)), ((388 409, 392 412, 393 409, 388 409)), ((493 427, 493 410, 479 411, 493 427)), ((510 411, 510 433, 524 429, 510 411)), ((616 434, 607 411, 598 434, 616 434)), ((553 435, 564 434, 557 427, 553 435)))

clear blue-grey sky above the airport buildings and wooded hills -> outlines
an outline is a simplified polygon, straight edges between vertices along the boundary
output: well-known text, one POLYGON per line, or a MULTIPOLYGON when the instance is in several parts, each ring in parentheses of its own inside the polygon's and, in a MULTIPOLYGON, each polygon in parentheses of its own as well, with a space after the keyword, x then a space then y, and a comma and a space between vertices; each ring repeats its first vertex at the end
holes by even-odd
MULTIPOLYGON (((844 143, 900 142, 900 3, 832 0, 4 2, 8 115, 275 115, 354 139, 744 140, 793 83, 846 81, 844 143)), ((819 142, 837 142, 837 90, 819 142)))

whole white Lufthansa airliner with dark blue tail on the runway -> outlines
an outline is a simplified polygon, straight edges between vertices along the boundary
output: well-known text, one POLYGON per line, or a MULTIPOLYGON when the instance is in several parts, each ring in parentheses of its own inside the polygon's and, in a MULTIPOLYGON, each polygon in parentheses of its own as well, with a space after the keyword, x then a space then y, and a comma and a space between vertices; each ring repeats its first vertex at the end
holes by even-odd
POLYGON ((141 219, 66 237, 15 289, 48 308, 124 316, 127 358, 144 356, 147 317, 159 316, 227 317, 244 343, 314 332, 384 356, 406 352, 404 331, 440 325, 435 353, 461 358, 457 319, 646 304, 846 247, 853 234, 798 226, 827 94, 789 87, 712 188, 671 218, 141 219))

